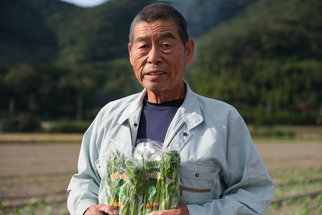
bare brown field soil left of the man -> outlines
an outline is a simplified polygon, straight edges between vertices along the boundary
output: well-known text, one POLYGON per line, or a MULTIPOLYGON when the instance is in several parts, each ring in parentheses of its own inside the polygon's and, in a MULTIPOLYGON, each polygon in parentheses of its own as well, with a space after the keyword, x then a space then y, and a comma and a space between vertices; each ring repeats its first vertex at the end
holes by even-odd
POLYGON ((79 152, 80 144, 0 144, 0 201, 8 208, 23 207, 31 199, 52 201, 58 205, 51 214, 68 214, 66 190, 77 173, 79 152))

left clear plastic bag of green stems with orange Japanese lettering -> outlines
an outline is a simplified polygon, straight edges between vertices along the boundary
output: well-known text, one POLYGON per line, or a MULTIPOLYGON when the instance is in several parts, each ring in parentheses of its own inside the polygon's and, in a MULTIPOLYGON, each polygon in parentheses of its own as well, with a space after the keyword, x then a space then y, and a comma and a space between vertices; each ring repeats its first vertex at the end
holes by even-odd
POLYGON ((111 138, 109 158, 106 163, 107 204, 118 210, 119 214, 137 214, 141 205, 144 176, 143 152, 137 157, 125 158, 126 150, 119 138, 111 138))

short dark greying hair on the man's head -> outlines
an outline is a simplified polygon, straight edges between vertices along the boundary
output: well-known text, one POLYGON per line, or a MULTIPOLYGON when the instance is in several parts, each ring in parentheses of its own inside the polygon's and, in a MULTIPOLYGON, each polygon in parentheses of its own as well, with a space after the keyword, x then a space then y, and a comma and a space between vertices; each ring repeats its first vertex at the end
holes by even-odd
POLYGON ((185 17, 179 13, 173 6, 165 3, 154 3, 144 7, 133 19, 130 27, 129 43, 132 46, 134 42, 134 27, 137 23, 152 23, 157 20, 173 21, 179 29, 179 36, 182 43, 186 44, 189 39, 187 32, 187 23, 185 17))

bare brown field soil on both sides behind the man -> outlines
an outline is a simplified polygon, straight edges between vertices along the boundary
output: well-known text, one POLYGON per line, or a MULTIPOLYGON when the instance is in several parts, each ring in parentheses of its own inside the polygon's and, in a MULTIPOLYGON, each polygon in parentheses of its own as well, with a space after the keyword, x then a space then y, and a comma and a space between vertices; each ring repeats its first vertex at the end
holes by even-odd
MULTIPOLYGON (((322 168, 321 141, 255 145, 270 174, 322 168)), ((52 201, 57 206, 52 207, 51 214, 68 214, 66 190, 72 175, 77 173, 80 147, 72 143, 1 143, 0 202, 6 208, 22 208, 31 199, 52 201)), ((37 214, 44 214, 45 210, 45 206, 39 207, 37 214)))

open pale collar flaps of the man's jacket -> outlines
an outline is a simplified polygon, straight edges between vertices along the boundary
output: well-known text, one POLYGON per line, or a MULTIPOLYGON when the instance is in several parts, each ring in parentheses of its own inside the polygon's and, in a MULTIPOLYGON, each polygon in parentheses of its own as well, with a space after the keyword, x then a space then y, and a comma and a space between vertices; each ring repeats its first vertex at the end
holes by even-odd
MULTIPOLYGON (((189 85, 184 81, 187 93, 185 95, 185 101, 183 102, 179 111, 181 111, 181 116, 185 122, 188 130, 193 129, 195 126, 203 121, 200 106, 198 103, 197 94, 192 92, 189 85)), ((144 97, 147 94, 147 89, 144 89, 132 103, 123 111, 118 123, 122 124, 126 121, 138 108, 142 107, 144 97)))

